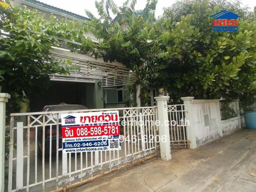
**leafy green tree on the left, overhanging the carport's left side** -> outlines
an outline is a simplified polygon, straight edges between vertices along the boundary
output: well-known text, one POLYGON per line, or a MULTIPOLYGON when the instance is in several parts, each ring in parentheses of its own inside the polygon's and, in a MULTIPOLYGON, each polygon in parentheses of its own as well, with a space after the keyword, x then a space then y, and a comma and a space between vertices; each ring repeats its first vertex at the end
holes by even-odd
POLYGON ((8 104, 13 110, 47 88, 49 74, 77 69, 70 60, 49 55, 51 46, 59 43, 55 36, 74 36, 65 24, 47 22, 36 10, 9 5, 0 6, 0 29, 0 85, 2 92, 11 94, 8 104))

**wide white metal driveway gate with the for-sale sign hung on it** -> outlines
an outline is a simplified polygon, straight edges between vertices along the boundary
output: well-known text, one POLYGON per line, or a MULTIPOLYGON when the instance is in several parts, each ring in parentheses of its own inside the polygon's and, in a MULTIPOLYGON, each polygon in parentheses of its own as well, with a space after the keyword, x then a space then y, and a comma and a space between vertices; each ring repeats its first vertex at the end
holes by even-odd
POLYGON ((120 150, 62 153, 59 111, 10 114, 8 191, 49 191, 157 153, 155 106, 61 112, 102 110, 119 110, 120 150))

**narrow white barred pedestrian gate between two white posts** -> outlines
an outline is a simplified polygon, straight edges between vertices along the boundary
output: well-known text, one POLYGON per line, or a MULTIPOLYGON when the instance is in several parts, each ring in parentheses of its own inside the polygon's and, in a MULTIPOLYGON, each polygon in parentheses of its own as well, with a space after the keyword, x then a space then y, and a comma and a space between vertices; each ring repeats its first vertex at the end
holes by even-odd
POLYGON ((186 118, 186 105, 168 105, 168 120, 170 130, 170 146, 184 148, 189 146, 188 125, 186 118))

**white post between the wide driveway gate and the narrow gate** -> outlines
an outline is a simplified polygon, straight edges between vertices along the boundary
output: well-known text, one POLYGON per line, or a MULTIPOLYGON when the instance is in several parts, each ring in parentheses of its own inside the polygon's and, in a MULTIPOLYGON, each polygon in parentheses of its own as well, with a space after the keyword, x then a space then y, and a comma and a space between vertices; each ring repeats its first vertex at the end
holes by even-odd
POLYGON ((157 102, 157 115, 159 120, 159 142, 160 154, 162 160, 170 160, 170 133, 167 112, 167 100, 169 96, 156 96, 154 97, 157 102), (166 139, 163 139, 164 137, 166 139))

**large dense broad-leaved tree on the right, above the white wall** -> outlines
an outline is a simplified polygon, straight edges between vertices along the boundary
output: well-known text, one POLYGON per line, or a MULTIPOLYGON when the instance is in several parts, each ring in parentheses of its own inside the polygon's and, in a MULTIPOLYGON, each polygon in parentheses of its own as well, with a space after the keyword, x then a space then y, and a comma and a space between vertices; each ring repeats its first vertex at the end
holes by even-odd
POLYGON ((252 98, 256 94, 256 20, 239 18, 237 32, 213 32, 209 16, 220 7, 206 0, 187 2, 191 14, 179 20, 165 15, 154 26, 161 51, 155 62, 158 67, 148 72, 149 80, 165 87, 174 100, 189 95, 252 98))

